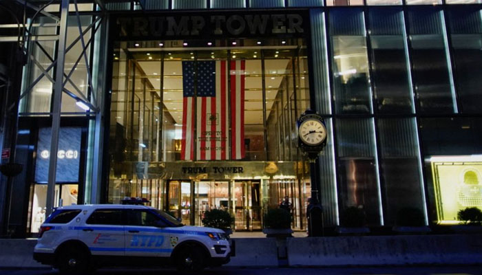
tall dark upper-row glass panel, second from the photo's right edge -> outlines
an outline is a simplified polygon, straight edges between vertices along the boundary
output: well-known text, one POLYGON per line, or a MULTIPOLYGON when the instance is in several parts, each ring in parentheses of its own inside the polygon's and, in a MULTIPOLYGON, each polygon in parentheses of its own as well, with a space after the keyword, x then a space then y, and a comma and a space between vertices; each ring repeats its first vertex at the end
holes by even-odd
POLYGON ((457 106, 441 11, 417 7, 407 14, 418 111, 452 113, 457 106))

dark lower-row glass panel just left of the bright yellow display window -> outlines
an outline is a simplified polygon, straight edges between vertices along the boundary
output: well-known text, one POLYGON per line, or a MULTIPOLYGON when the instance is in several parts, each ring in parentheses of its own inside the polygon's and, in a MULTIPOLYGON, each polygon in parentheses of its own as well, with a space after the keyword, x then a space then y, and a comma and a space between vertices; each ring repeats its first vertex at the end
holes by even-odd
POLYGON ((384 186, 385 225, 395 225, 401 208, 425 212, 425 195, 415 118, 379 119, 381 183, 384 186))

